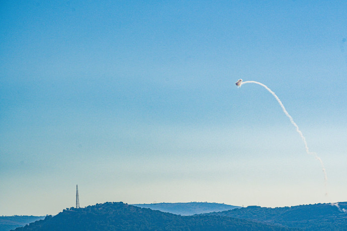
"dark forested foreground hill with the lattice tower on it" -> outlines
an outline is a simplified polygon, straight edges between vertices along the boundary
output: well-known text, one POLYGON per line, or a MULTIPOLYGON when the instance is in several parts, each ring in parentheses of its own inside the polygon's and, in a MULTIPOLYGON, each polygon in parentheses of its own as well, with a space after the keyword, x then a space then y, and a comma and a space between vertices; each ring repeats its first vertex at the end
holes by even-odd
POLYGON ((16 231, 60 230, 292 230, 227 216, 181 216, 122 202, 70 208, 16 231))

